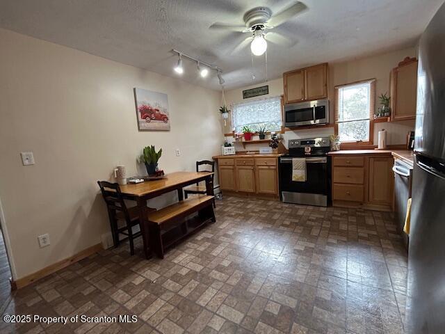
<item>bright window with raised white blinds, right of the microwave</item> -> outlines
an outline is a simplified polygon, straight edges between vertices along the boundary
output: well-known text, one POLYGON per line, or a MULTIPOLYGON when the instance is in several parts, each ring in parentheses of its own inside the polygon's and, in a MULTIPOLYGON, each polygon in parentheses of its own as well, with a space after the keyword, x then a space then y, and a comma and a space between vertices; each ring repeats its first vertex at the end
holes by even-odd
POLYGON ((335 86, 335 123, 342 143, 372 142, 375 79, 335 86))

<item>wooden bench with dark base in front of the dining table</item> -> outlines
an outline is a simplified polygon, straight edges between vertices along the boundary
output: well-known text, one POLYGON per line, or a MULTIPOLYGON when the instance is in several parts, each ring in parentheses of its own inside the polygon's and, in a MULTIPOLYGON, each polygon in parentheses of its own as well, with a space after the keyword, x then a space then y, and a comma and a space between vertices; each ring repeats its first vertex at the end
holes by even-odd
POLYGON ((164 250, 200 228, 215 222, 214 196, 197 196, 181 200, 163 209, 149 212, 147 217, 150 248, 161 259, 164 250), (195 216, 192 214, 197 213, 195 216))

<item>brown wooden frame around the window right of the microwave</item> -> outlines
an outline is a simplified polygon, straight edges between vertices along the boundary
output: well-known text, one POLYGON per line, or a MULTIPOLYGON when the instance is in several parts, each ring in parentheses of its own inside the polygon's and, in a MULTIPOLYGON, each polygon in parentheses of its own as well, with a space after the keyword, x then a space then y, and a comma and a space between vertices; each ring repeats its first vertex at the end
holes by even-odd
POLYGON ((371 92, 369 97, 369 138, 368 141, 347 141, 340 144, 340 148, 363 148, 374 145, 374 111, 375 111, 375 81, 376 79, 366 79, 360 81, 350 82, 348 84, 341 84, 334 86, 334 133, 339 134, 339 88, 348 86, 355 86, 357 84, 371 84, 371 92))

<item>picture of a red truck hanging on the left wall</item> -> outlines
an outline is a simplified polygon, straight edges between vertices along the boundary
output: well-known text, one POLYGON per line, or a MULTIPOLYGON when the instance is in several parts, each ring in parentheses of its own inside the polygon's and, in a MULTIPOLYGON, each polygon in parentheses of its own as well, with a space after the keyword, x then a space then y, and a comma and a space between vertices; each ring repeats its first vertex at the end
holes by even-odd
POLYGON ((134 88, 139 130, 170 130, 167 94, 134 88))

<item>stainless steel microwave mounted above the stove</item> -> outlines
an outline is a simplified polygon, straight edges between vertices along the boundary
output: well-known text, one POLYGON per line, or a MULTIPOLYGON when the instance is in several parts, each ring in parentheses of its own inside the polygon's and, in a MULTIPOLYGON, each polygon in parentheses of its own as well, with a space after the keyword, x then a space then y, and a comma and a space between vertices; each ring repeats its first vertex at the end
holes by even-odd
POLYGON ((286 104, 284 126, 318 125, 329 123, 329 100, 286 104))

